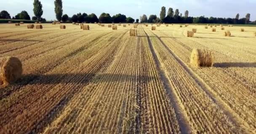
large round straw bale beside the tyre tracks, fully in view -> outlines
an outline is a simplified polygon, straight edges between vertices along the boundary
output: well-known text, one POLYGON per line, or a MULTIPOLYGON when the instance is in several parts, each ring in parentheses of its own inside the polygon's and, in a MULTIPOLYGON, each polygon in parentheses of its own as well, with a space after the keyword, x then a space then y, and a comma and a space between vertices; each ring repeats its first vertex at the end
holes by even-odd
POLYGON ((193 49, 190 57, 190 64, 194 67, 212 67, 213 54, 206 49, 193 49))

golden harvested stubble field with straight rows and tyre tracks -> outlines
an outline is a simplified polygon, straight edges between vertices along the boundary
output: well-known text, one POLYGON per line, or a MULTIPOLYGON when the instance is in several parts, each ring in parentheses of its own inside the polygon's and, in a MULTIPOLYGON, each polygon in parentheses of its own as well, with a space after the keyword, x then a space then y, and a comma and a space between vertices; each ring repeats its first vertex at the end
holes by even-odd
POLYGON ((256 27, 42 25, 0 24, 0 57, 24 70, 0 89, 1 134, 256 133, 256 27), (193 48, 214 66, 192 67, 193 48))

